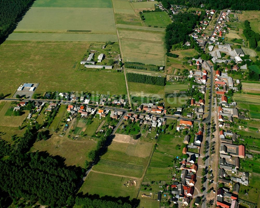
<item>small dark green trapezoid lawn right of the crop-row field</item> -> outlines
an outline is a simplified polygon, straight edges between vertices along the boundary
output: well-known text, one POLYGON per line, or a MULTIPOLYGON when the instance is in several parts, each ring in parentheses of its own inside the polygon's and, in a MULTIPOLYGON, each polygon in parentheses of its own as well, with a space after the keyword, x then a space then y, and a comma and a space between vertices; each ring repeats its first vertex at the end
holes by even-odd
POLYGON ((149 166, 159 168, 172 167, 173 158, 154 152, 149 166))

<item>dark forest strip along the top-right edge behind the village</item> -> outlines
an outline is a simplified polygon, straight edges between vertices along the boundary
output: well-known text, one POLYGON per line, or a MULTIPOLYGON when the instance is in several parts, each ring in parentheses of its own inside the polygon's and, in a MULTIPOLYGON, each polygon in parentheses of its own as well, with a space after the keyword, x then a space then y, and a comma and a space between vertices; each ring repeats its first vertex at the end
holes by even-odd
POLYGON ((200 7, 201 4, 205 5, 206 9, 232 9, 232 10, 259 10, 259 0, 161 0, 162 5, 170 8, 170 4, 185 5, 188 7, 200 7))

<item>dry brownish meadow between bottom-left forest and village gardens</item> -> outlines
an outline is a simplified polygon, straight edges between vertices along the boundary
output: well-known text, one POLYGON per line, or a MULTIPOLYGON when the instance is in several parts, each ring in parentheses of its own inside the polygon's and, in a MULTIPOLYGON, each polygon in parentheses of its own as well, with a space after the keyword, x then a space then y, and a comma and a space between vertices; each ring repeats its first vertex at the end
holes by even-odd
POLYGON ((50 155, 60 155, 65 158, 67 165, 76 165, 85 167, 85 161, 90 161, 88 153, 96 148, 96 141, 88 138, 80 140, 71 140, 66 136, 60 137, 53 133, 50 139, 37 141, 31 148, 34 151, 47 151, 50 155))

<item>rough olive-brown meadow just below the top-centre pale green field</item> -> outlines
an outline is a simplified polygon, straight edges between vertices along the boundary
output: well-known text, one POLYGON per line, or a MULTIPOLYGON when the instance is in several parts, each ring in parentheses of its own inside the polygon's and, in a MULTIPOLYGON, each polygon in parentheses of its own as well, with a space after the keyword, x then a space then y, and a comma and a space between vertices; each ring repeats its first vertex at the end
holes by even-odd
POLYGON ((139 15, 115 13, 116 24, 128 24, 133 26, 142 26, 142 21, 139 15))

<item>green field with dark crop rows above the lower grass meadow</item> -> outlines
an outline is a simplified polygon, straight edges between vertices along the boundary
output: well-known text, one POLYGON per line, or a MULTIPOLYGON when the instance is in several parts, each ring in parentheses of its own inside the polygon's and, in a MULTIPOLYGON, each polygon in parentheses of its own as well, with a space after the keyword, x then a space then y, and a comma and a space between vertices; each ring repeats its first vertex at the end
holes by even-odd
POLYGON ((126 154, 107 152, 94 165, 93 170, 103 173, 141 178, 148 159, 126 154))

